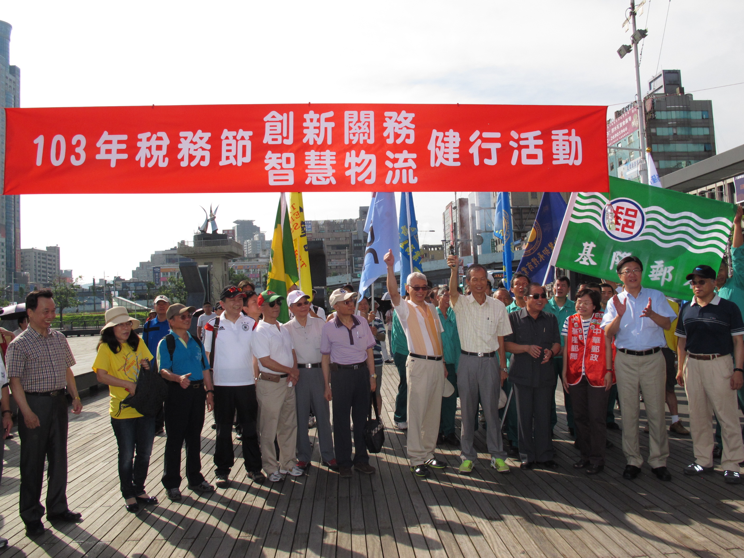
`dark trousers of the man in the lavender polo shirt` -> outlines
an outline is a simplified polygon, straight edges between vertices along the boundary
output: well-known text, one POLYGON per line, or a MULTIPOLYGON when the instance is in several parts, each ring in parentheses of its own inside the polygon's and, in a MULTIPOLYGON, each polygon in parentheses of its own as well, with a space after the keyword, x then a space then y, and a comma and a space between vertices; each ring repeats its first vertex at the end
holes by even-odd
POLYGON ((359 370, 331 371, 333 390, 333 446, 336 464, 350 467, 370 462, 365 443, 365 423, 370 408, 370 373, 367 367, 359 370), (354 458, 351 459, 351 424, 354 425, 354 458))

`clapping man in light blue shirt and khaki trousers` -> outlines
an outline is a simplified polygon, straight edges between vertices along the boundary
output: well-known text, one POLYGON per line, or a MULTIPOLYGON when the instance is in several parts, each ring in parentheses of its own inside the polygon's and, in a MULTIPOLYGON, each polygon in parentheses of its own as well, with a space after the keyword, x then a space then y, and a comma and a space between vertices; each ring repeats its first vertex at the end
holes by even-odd
POLYGON ((649 465, 656 478, 670 481, 667 471, 669 436, 664 416, 667 365, 661 347, 667 346, 664 330, 677 317, 664 293, 641 286, 644 271, 638 257, 623 257, 617 266, 625 290, 607 303, 601 326, 615 337, 615 376, 618 379, 620 414, 623 417, 623 453, 627 465, 623 478, 632 481, 641 472, 644 458, 638 440, 638 415, 644 396, 649 426, 649 465))

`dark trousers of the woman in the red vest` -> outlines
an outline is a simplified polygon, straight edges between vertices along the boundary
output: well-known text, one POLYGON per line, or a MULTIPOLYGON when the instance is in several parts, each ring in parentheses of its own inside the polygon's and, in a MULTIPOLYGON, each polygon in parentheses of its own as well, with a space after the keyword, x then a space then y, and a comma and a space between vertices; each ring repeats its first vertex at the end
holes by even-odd
POLYGON ((594 465, 604 465, 607 442, 607 399, 604 386, 596 388, 586 376, 576 385, 569 385, 574 402, 576 447, 581 458, 594 465))

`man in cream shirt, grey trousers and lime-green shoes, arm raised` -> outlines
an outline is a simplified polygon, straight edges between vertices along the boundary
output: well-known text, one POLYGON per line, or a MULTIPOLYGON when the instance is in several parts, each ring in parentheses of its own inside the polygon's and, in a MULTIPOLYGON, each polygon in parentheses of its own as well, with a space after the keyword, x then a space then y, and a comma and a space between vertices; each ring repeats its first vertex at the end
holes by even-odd
POLYGON ((469 474, 478 452, 472 445, 478 400, 486 418, 486 443, 491 454, 491 467, 498 472, 510 472, 504 461, 507 452, 501 440, 498 420, 498 398, 507 379, 507 359, 504 336, 512 333, 507 309, 501 301, 490 296, 488 273, 484 266, 474 263, 465 272, 465 283, 470 294, 460 296, 458 286, 458 257, 447 256, 449 295, 452 310, 458 319, 460 355, 458 362, 458 393, 462 413, 460 437, 460 472, 469 474))

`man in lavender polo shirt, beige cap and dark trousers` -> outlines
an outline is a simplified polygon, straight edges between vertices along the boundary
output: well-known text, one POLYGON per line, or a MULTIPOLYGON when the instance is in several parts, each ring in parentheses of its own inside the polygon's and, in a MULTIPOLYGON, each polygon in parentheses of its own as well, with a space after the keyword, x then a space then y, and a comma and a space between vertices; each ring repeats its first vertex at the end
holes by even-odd
POLYGON ((358 293, 347 289, 336 289, 331 293, 329 302, 334 313, 321 333, 321 365, 323 376, 330 377, 333 390, 333 445, 341 478, 351 477, 352 466, 365 475, 376 470, 369 464, 365 443, 370 392, 377 388, 372 352, 376 341, 367 322, 354 315, 357 296, 358 293), (349 417, 353 421, 353 460, 349 417))

